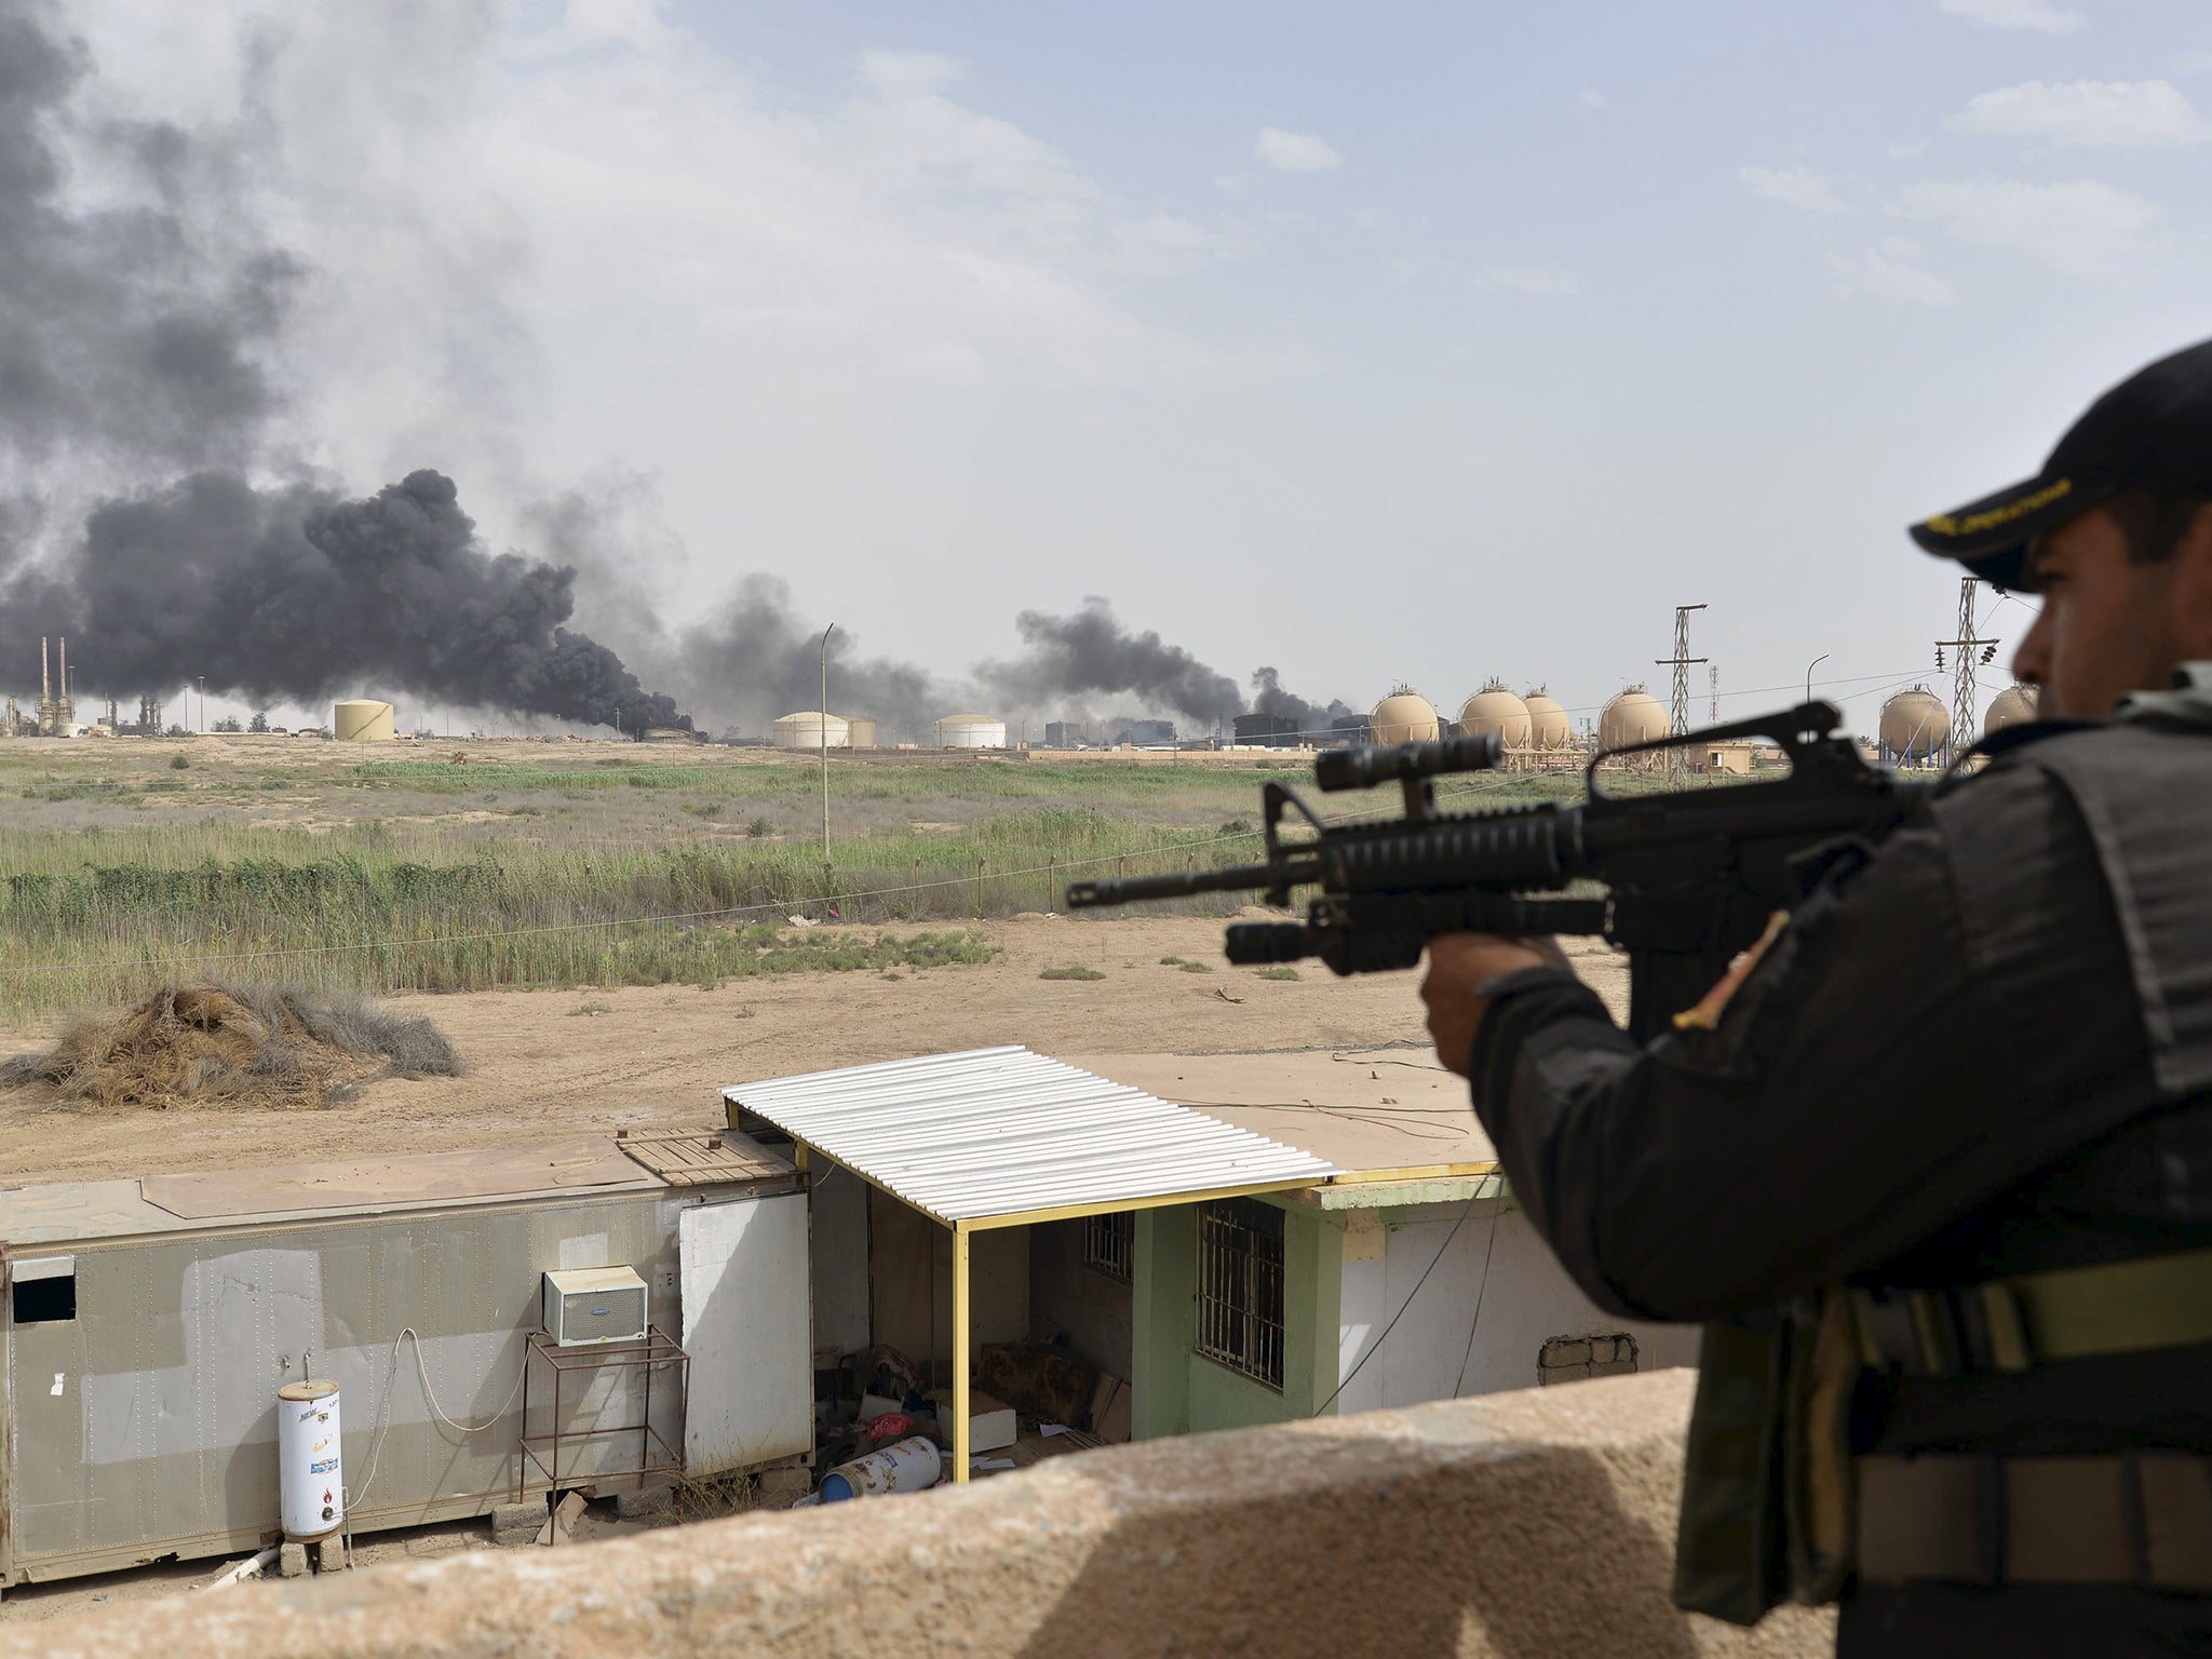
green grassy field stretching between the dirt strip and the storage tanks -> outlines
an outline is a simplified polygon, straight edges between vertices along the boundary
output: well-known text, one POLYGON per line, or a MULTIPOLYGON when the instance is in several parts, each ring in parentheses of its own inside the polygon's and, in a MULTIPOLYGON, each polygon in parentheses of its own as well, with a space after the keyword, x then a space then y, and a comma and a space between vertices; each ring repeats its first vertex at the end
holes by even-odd
MULTIPOLYGON (((458 991, 982 960, 993 947, 962 922, 1057 907, 1071 876, 1252 860, 1259 785, 1294 772, 838 757, 825 860, 812 765, 462 748, 467 763, 285 739, 0 743, 0 1011, 190 978, 458 991), (790 920, 832 909, 843 927, 790 920)), ((1444 787, 1467 805, 1573 783, 1444 787)))

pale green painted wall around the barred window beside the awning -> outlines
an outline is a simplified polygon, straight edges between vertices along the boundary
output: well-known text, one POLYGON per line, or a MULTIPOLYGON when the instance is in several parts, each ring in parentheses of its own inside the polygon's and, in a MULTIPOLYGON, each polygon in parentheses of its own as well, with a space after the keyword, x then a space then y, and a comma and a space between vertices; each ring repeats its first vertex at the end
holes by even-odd
POLYGON ((1310 1418, 1336 1389, 1345 1223, 1283 1210, 1283 1391, 1199 1358, 1199 1212, 1137 1212, 1130 1431, 1137 1440, 1310 1418))

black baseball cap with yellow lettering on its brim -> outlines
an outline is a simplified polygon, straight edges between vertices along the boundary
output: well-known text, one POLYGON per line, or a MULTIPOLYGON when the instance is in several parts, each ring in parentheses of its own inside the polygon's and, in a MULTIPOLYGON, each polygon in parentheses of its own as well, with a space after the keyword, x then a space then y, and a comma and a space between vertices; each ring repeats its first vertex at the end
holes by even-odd
POLYGON ((2212 341, 2097 398, 2035 478, 1936 513, 1911 535, 2000 588, 2031 591, 2028 542, 2130 489, 2212 500, 2212 341))

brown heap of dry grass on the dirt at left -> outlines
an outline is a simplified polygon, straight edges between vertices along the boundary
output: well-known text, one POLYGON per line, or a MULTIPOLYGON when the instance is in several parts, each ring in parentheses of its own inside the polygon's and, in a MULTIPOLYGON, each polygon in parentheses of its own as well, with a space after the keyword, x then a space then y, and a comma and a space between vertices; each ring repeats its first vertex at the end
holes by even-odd
POLYGON ((77 1020, 53 1053, 0 1064, 0 1088, 44 1088, 69 1106, 299 1110, 376 1077, 460 1071, 438 1026, 365 998, 195 984, 77 1020))

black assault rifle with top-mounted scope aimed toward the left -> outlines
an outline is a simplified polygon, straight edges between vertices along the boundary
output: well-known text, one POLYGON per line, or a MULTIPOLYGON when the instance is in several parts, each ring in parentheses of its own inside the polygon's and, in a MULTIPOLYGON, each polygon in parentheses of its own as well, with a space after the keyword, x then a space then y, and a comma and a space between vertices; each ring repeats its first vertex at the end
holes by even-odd
POLYGON ((1332 750, 1314 761, 1329 794, 1398 783, 1405 816, 1325 821, 1298 794, 1261 790, 1267 863, 1128 880, 1082 880, 1068 909, 1148 898, 1254 891, 1276 907, 1318 887, 1303 922, 1234 922, 1228 960, 1298 962, 1336 973, 1407 969, 1440 933, 1595 933, 1628 951, 1628 1029, 1648 1040, 1692 1006, 1767 918, 1801 900, 1823 849, 1887 836, 1927 783, 1871 765, 1838 734, 1829 703, 1761 714, 1701 732, 1599 750, 1588 801, 1537 801, 1486 812, 1438 812, 1436 779, 1502 761, 1495 734, 1396 748, 1332 750), (1608 794, 1599 765, 1628 754, 1732 739, 1781 745, 1790 772, 1747 783, 1608 794), (1290 821, 1310 834, 1285 838, 1290 821), (1601 885, 1601 896, 1573 887, 1601 885))

